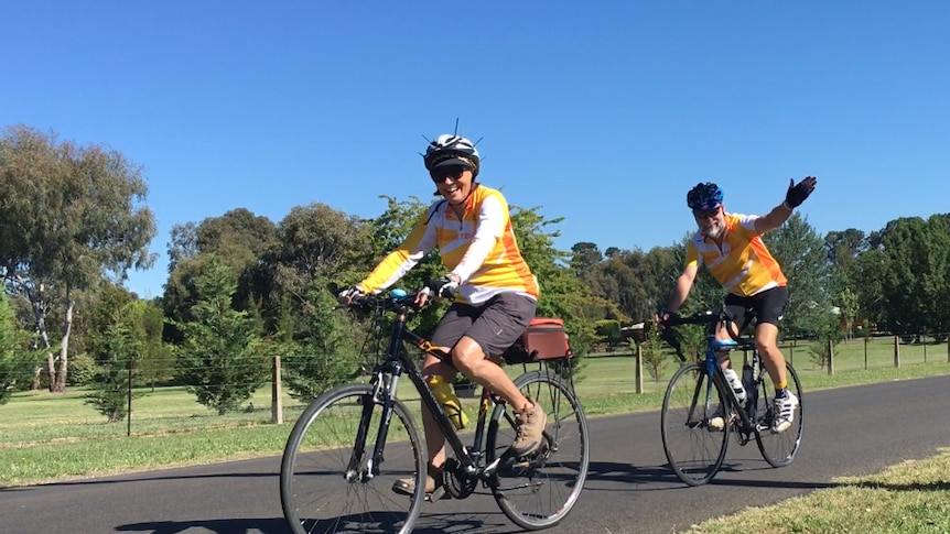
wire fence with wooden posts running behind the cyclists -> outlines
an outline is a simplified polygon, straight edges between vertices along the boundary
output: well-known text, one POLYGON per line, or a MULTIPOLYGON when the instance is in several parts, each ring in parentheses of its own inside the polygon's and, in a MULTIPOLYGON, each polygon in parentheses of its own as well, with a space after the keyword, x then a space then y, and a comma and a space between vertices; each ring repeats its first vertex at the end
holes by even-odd
MULTIPOLYGON (((827 360, 817 356, 819 347, 816 341, 786 341, 780 348, 799 373, 836 374, 919 363, 947 363, 950 362, 948 338, 950 336, 946 334, 938 334, 848 339, 833 345, 831 358, 827 360)), ((742 356, 734 355, 733 358, 742 356)), ((600 357, 592 355, 586 372, 591 384, 581 384, 584 393, 609 394, 606 390, 609 389, 608 384, 614 382, 620 384, 624 391, 644 392, 643 386, 634 388, 637 379, 633 372, 602 372, 594 360, 604 360, 603 363, 607 363, 606 360, 617 360, 614 363, 616 369, 633 369, 636 356, 629 350, 600 357), (624 361, 617 360, 616 357, 623 358, 624 361)), ((217 411, 199 404, 195 394, 188 391, 187 384, 152 388, 142 381, 133 382, 133 388, 128 392, 130 416, 118 424, 106 423, 104 415, 85 403, 85 397, 90 392, 88 389, 71 388, 66 394, 51 394, 45 391, 17 393, 9 404, 0 406, 0 447, 292 423, 310 400, 295 397, 288 391, 280 359, 273 358, 272 361, 269 380, 256 389, 251 397, 241 403, 239 410, 226 414, 218 414, 217 411)), ((646 377, 647 392, 661 390, 676 367, 673 362, 669 362, 663 370, 663 377, 657 380, 646 377)), ((521 372, 517 366, 506 369, 512 375, 521 372)), ((584 380, 584 374, 585 371, 582 370, 580 380, 584 380)), ((356 380, 366 380, 366 377, 358 377, 356 380)), ((644 377, 638 380, 644 380, 644 377)), ((259 382, 255 382, 257 383, 259 382)), ((409 380, 400 381, 399 390, 399 396, 410 403, 419 396, 409 380)), ((584 393, 581 393, 582 401, 584 393)), ((465 401, 467 400, 463 400, 465 401)), ((289 428, 285 432, 290 432, 289 428)))

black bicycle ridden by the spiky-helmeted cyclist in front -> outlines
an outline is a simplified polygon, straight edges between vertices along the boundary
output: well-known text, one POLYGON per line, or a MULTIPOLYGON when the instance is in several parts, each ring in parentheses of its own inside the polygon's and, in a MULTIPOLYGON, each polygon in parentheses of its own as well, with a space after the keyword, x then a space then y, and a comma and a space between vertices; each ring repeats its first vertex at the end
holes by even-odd
MULTIPOLYGON (((408 347, 444 356, 407 327, 418 312, 415 294, 396 290, 365 295, 349 309, 379 324, 395 316, 389 347, 367 383, 341 385, 310 403, 293 427, 283 453, 280 497, 284 517, 294 533, 399 533, 412 531, 423 501, 465 499, 476 488, 490 490, 498 506, 525 530, 560 523, 576 503, 590 464, 587 421, 570 380, 568 355, 532 362, 521 355, 525 373, 515 379, 521 393, 541 405, 548 424, 543 443, 533 453, 515 457, 511 406, 482 390, 471 446, 462 437, 423 379, 408 347), (538 369, 528 371, 529 364, 538 369), (442 484, 427 495, 427 448, 413 413, 397 397, 400 379, 408 377, 422 403, 434 415, 451 449, 442 484), (397 494, 392 484, 414 479, 411 497, 397 494)), ((518 361, 516 347, 506 352, 518 361)), ((497 361, 497 360, 496 360, 497 361)), ((415 414, 418 416, 418 413, 415 414)))

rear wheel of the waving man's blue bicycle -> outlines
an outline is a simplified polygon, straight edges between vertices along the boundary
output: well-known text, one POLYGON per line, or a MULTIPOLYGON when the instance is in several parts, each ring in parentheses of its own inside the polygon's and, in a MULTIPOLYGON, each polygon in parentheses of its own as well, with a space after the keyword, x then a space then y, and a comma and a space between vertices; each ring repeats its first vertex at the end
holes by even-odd
POLYGON ((771 404, 771 397, 768 395, 768 383, 766 379, 768 373, 759 373, 758 400, 756 401, 755 413, 755 440, 758 444, 758 450, 762 457, 771 467, 785 467, 795 460, 795 455, 798 454, 801 447, 801 434, 805 431, 805 421, 802 417, 802 406, 805 405, 801 396, 801 382, 798 380, 798 373, 786 362, 785 372, 788 382, 788 389, 798 396, 798 408, 795 411, 795 418, 791 427, 781 434, 771 432, 771 419, 775 408, 771 404))

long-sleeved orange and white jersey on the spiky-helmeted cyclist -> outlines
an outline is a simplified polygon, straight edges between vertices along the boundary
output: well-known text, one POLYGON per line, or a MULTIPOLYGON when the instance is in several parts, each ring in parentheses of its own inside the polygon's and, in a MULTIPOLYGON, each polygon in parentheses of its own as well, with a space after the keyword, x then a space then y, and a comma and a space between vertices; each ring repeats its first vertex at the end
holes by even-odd
POLYGON ((460 220, 449 203, 433 203, 406 241, 360 282, 371 293, 395 284, 438 247, 442 263, 462 280, 457 302, 479 304, 499 293, 538 298, 538 281, 521 258, 508 203, 497 189, 476 185, 460 220))

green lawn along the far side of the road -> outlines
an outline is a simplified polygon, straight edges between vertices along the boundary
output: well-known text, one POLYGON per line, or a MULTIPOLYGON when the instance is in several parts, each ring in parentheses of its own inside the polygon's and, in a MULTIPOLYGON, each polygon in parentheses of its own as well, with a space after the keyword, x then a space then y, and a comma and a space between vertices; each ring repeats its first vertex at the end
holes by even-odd
MULTIPOLYGON (((841 344, 836 372, 829 375, 811 363, 807 346, 785 349, 806 392, 950 373, 947 351, 946 344, 902 345, 900 367, 895 368, 893 339, 870 342, 866 363, 863 341, 841 344)), ((734 358, 741 360, 742 355, 734 358)), ((658 410, 666 381, 677 367, 670 358, 658 380, 646 374, 644 392, 638 394, 634 358, 618 352, 593 355, 583 360, 575 388, 589 416, 658 410)), ((508 372, 516 375, 521 367, 509 367, 508 372)), ((0 486, 280 455, 303 407, 284 395, 284 424, 276 425, 270 385, 251 399, 252 412, 225 416, 197 404, 181 388, 139 393, 142 396, 132 405, 131 437, 127 437, 127 422, 107 424, 84 404, 82 390, 63 395, 14 394, 0 406, 0 486)), ((400 382, 400 397, 418 399, 408 380, 400 382)), ((464 399, 463 404, 469 416, 476 413, 475 400, 464 399)))

